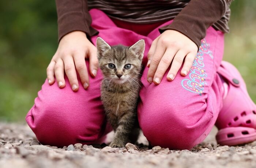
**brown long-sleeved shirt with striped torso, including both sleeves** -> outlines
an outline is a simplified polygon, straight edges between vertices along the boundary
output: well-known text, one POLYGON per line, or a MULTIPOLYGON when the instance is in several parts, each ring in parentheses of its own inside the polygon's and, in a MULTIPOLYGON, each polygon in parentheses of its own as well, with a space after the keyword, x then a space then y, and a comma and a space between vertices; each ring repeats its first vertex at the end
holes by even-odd
POLYGON ((90 26, 89 9, 97 8, 109 17, 131 23, 148 24, 174 19, 162 27, 179 31, 196 45, 211 25, 228 32, 229 5, 232 0, 56 0, 59 40, 69 32, 83 31, 88 36, 98 32, 90 26))

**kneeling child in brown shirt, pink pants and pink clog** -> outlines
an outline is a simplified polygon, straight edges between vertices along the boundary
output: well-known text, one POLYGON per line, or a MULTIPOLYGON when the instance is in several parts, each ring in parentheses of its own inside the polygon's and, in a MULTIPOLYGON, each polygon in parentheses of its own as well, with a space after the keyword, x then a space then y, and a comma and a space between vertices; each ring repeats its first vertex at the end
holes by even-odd
POLYGON ((152 145, 190 149, 214 124, 221 145, 256 140, 256 105, 237 69, 222 61, 230 1, 56 0, 56 5, 59 47, 26 117, 42 144, 102 143, 111 131, 100 100, 97 36, 110 45, 145 40, 138 119, 152 145))

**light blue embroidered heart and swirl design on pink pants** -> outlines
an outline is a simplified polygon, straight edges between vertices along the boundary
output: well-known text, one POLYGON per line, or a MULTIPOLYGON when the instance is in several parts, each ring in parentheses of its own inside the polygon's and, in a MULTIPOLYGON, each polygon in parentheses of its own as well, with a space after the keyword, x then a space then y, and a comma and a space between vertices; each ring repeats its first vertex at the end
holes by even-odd
POLYGON ((206 77, 207 73, 204 69, 204 58, 205 54, 209 55, 211 59, 213 59, 212 52, 210 49, 210 44, 206 42, 205 39, 201 41, 201 46, 199 47, 199 51, 193 61, 192 67, 189 71, 189 79, 183 79, 181 81, 181 85, 184 89, 198 93, 200 96, 204 93, 204 85, 206 85, 206 77))

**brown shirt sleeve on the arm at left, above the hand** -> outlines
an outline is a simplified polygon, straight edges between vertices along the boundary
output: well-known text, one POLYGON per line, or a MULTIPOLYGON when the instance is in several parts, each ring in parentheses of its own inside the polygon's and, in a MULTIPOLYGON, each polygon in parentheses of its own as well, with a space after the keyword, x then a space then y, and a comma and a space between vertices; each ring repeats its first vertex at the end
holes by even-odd
POLYGON ((59 41, 72 31, 83 31, 87 37, 96 35, 97 30, 90 27, 91 16, 87 0, 56 0, 59 41))

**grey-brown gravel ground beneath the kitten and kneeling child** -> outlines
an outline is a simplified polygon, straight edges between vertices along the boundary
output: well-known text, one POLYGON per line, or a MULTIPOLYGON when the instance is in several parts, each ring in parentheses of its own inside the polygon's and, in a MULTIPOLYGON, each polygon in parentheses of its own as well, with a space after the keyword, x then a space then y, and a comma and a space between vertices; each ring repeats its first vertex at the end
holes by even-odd
MULTIPOLYGON (((106 145, 71 144, 57 148, 41 145, 25 124, 0 123, 0 167, 3 168, 255 168, 256 141, 243 146, 217 145, 214 128, 207 139, 189 150, 127 144, 126 148, 106 145)), ((111 135, 109 135, 109 139, 111 135)), ((140 142, 147 144, 144 137, 140 142)))

